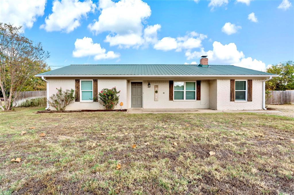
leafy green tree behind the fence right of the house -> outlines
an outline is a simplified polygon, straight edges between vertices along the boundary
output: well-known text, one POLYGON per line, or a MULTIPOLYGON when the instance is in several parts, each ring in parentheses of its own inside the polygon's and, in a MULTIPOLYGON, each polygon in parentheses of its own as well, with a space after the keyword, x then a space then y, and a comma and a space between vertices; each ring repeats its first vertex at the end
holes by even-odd
POLYGON ((287 61, 275 64, 266 69, 268 73, 279 75, 265 83, 267 90, 294 90, 294 62, 287 61))

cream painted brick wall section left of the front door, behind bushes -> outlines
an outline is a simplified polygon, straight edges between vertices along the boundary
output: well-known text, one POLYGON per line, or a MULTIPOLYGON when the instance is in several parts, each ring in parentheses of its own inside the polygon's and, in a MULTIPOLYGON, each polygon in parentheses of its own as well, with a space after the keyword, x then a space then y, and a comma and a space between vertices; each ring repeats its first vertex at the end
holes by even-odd
MULTIPOLYGON (((57 92, 56 88, 66 89, 75 89, 75 79, 85 79, 85 78, 74 78, 74 79, 56 79, 56 78, 47 78, 49 81, 49 97, 57 92)), ((86 78, 86 79, 95 79, 95 78, 86 78)), ((121 92, 119 95, 119 102, 123 102, 123 109, 127 108, 127 80, 126 79, 98 79, 98 92, 103 88, 113 88, 121 92)), ((55 110, 50 107, 51 110, 55 110)), ((73 102, 70 105, 66 106, 66 110, 99 110, 104 109, 102 105, 98 102, 73 102)), ((121 109, 120 105, 117 105, 114 109, 121 109)))

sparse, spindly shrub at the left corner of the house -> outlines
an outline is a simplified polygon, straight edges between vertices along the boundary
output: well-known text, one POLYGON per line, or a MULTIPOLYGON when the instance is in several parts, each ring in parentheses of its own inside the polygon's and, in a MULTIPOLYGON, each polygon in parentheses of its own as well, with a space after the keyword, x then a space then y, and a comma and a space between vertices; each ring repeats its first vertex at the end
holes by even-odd
POLYGON ((57 93, 53 94, 49 98, 49 105, 54 107, 56 110, 65 110, 65 107, 71 104, 75 100, 74 90, 65 90, 61 88, 57 89, 57 93))

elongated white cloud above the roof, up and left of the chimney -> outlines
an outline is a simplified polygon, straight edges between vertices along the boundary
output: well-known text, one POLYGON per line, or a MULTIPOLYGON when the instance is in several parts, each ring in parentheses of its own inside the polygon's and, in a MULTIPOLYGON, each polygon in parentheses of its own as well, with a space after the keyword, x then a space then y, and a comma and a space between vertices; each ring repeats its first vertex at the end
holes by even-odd
POLYGON ((185 36, 177 37, 176 39, 172 37, 164 37, 154 45, 154 49, 163 51, 176 49, 176 52, 180 52, 182 49, 190 50, 201 47, 202 40, 206 38, 207 35, 192 31, 185 36))

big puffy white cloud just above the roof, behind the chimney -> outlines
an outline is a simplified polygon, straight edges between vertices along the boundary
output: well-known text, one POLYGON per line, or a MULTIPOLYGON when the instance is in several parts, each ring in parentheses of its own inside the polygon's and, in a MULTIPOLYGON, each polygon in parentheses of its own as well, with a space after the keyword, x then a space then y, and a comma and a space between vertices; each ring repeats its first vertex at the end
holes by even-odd
POLYGON ((251 57, 245 58, 243 52, 238 51, 235 43, 223 45, 220 42, 215 41, 213 42, 213 50, 205 52, 204 48, 201 48, 199 52, 188 51, 185 53, 187 60, 199 59, 202 55, 208 56, 208 64, 231 64, 255 70, 265 69, 265 64, 262 61, 256 59, 253 60, 251 57))

